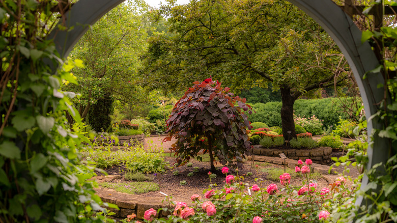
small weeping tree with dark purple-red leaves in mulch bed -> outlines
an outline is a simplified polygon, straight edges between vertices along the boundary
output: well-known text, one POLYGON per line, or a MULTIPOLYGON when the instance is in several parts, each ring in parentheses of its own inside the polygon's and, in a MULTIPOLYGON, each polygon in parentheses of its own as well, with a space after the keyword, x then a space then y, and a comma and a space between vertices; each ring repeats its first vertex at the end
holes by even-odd
POLYGON ((234 96, 229 88, 211 78, 195 81, 185 95, 175 104, 167 120, 167 137, 174 136, 177 142, 172 149, 179 164, 195 157, 201 149, 209 153, 211 171, 215 171, 214 156, 223 165, 242 166, 251 144, 248 141, 250 122, 244 111, 251 113, 245 99, 234 96), (206 140, 205 140, 206 139, 206 140))

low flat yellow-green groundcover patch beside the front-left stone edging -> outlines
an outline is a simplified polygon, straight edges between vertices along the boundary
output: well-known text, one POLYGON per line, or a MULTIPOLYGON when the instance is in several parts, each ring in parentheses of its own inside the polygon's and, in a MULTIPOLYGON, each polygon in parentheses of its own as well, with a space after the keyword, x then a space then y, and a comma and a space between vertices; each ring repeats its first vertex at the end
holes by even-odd
POLYGON ((103 188, 110 188, 129 194, 147 193, 160 189, 159 185, 153 182, 103 182, 99 183, 99 185, 103 188))

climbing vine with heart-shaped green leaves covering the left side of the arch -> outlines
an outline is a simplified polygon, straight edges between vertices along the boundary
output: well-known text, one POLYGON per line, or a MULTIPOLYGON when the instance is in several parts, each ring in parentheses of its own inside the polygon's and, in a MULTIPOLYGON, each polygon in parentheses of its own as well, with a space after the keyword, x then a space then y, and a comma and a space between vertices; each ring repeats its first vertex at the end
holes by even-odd
POLYGON ((88 180, 94 168, 81 152, 90 140, 70 101, 78 95, 60 90, 66 82, 76 83, 70 70, 83 66, 80 60, 63 64, 47 39, 48 27, 65 16, 56 6, 52 1, 1 3, 1 222, 104 222, 97 212, 117 208, 103 203, 88 180))

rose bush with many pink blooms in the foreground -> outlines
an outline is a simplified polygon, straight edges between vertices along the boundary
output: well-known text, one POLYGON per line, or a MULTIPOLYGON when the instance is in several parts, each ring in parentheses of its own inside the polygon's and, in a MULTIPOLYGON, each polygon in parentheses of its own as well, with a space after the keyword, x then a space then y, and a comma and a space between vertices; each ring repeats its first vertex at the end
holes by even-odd
MULTIPOLYGON (((303 168, 303 161, 299 168, 303 168)), ((306 160, 306 163, 310 163, 306 160)), ((310 164, 311 165, 311 164, 310 164)), ((309 168, 309 166, 307 166, 309 168)), ((291 185, 278 188, 276 184, 265 185, 262 179, 258 184, 250 185, 243 182, 238 175, 234 182, 226 184, 219 190, 209 188, 204 194, 213 194, 207 201, 194 199, 187 209, 181 202, 170 202, 174 209, 162 209, 171 214, 165 218, 154 219, 155 222, 321 222, 332 220, 331 207, 335 205, 351 208, 354 202, 355 188, 346 187, 346 179, 339 177, 329 187, 317 190, 317 183, 311 179, 311 173, 302 174, 302 185, 291 185), (256 191, 248 192, 248 189, 256 191), (188 213, 185 213, 188 211, 188 213), (185 214, 184 214, 185 213, 185 214)), ((229 175, 231 176, 231 175, 229 175)), ((280 180, 288 182, 286 174, 280 180)), ((193 197, 193 196, 192 196, 193 197)), ((194 196, 196 198, 197 196, 194 196)), ((167 199, 169 200, 169 199, 167 199)), ((193 200, 193 199, 192 199, 193 200)), ((149 210, 148 210, 149 211, 149 210)), ((151 211, 153 213, 153 211, 151 211)), ((149 214, 148 214, 149 215, 149 214)), ((150 215, 150 216, 153 216, 150 215)), ((338 216, 335 215, 335 220, 338 216)))

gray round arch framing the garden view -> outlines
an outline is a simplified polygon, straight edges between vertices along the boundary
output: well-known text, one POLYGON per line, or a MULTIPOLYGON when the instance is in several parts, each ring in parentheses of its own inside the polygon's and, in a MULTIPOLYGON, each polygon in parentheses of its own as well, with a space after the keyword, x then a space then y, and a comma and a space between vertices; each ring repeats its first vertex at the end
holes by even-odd
MULTIPOLYGON (((371 117, 377 112, 376 103, 382 100, 383 90, 378 89, 378 83, 384 83, 380 73, 368 74, 366 79, 363 75, 376 68, 379 63, 375 57, 371 46, 365 42, 361 44, 361 31, 353 23, 342 9, 337 7, 331 0, 288 0, 292 4, 315 19, 323 29, 332 37, 339 48, 344 53, 360 89, 364 103, 366 117, 371 117)), ((56 50, 62 58, 67 57, 77 41, 89 29, 88 25, 93 25, 106 12, 116 7, 124 0, 80 0, 67 13, 67 26, 74 26, 71 31, 53 30, 49 39, 53 39, 56 50)), ((376 119, 367 123, 368 136, 372 130, 381 128, 382 125, 376 119)), ((368 137, 369 138, 369 137, 368 137)), ((383 138, 375 137, 372 147, 367 149, 369 162, 367 169, 374 164, 385 163, 388 158, 387 141, 383 138), (374 149, 376 153, 374 153, 374 149)), ((368 183, 368 178, 363 177, 361 186, 368 183)), ((356 204, 361 205, 363 198, 357 199, 356 204)))

